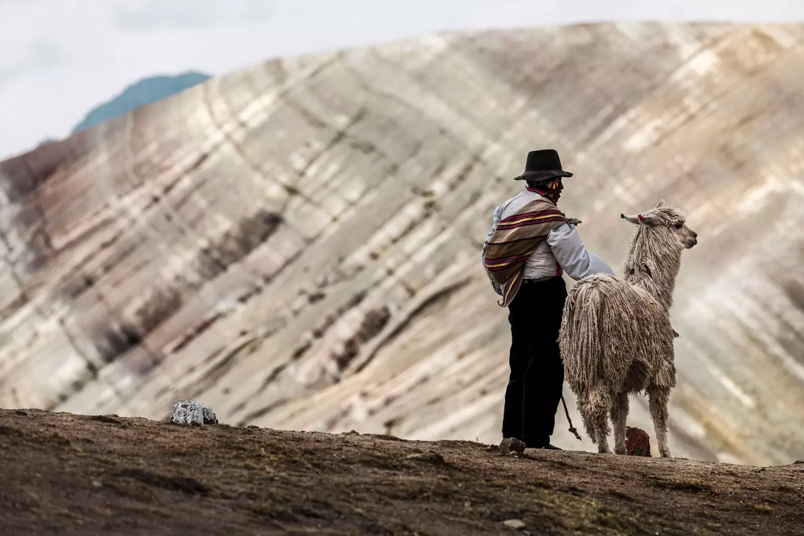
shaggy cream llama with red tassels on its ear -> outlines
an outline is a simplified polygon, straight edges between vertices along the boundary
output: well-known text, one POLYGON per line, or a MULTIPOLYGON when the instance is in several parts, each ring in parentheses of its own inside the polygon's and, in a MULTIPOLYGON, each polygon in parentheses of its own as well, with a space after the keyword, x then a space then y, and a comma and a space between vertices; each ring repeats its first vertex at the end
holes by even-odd
POLYGON ((667 404, 675 387, 670 325, 681 253, 698 243, 683 212, 656 207, 636 216, 624 277, 597 274, 568 293, 559 333, 565 377, 575 393, 587 435, 598 452, 609 453, 609 415, 614 452, 626 453, 628 395, 645 391, 658 451, 670 458, 667 404))

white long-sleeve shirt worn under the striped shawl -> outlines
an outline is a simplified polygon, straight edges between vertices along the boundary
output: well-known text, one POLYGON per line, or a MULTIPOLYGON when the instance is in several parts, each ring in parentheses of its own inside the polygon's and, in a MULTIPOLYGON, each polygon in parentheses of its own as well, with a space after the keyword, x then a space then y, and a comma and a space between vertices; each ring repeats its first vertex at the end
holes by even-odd
MULTIPOLYGON (((486 235, 486 240, 494 234, 501 219, 514 214, 535 199, 544 199, 544 197, 535 192, 523 190, 495 208, 494 223, 491 231, 486 235)), ((584 241, 580 239, 580 235, 572 223, 564 223, 550 231, 547 239, 540 243, 536 251, 531 253, 531 256, 525 261, 524 278, 539 280, 554 277, 558 273, 559 266, 574 280, 591 276, 594 273, 615 275, 608 264, 586 249, 584 241)), ((483 268, 486 269, 485 262, 483 268)), ((494 290, 500 293, 499 284, 494 282, 487 269, 486 276, 489 277, 494 290)))

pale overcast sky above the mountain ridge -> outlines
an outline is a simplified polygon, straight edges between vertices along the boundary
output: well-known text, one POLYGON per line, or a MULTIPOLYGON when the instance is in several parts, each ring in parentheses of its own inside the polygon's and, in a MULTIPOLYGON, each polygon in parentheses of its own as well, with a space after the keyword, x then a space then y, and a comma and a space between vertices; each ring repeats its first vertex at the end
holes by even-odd
POLYGON ((597 20, 804 21, 804 0, 0 0, 0 159, 144 76, 433 31, 597 20))

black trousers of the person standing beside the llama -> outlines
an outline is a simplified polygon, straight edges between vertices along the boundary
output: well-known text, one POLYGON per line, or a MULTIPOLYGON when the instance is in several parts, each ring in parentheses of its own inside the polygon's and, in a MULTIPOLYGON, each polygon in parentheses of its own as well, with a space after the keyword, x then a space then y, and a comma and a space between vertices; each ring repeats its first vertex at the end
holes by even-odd
POLYGON ((508 305, 511 376, 505 393, 503 437, 528 448, 550 443, 564 385, 558 346, 567 286, 561 277, 523 282, 508 305))

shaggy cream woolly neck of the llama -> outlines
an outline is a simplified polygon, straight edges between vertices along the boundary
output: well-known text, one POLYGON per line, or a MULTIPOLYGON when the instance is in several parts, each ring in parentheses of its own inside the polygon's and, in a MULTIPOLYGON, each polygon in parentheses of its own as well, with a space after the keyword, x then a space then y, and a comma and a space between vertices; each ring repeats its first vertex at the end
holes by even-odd
POLYGON ((639 227, 631 238, 624 279, 650 293, 669 311, 682 251, 683 246, 666 227, 639 227))

